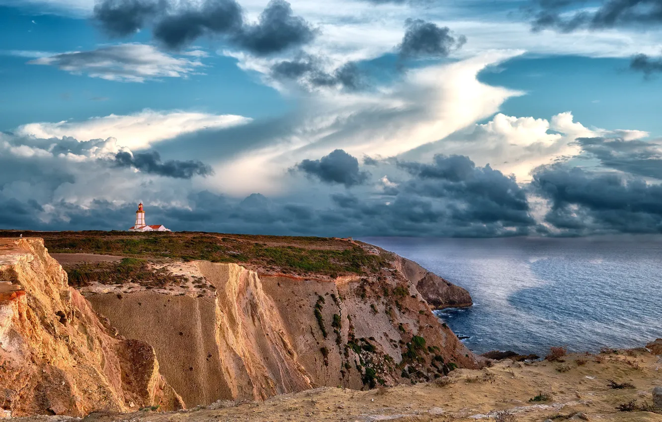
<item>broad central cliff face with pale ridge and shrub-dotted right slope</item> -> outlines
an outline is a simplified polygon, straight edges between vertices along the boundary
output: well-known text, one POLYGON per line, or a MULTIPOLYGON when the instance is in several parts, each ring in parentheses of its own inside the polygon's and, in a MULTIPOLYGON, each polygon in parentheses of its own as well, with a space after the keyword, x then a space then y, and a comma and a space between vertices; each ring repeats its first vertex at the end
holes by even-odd
POLYGON ((187 407, 317 386, 430 380, 454 365, 481 363, 395 266, 379 276, 338 278, 207 261, 171 267, 199 288, 128 283, 83 292, 122 335, 154 347, 187 407))

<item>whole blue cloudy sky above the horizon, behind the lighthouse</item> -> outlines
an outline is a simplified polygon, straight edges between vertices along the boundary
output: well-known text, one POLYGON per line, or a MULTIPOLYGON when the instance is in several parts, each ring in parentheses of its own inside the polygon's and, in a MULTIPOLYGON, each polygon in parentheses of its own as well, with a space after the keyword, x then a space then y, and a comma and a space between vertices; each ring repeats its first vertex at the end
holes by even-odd
POLYGON ((662 0, 0 0, 0 228, 662 232, 662 0))

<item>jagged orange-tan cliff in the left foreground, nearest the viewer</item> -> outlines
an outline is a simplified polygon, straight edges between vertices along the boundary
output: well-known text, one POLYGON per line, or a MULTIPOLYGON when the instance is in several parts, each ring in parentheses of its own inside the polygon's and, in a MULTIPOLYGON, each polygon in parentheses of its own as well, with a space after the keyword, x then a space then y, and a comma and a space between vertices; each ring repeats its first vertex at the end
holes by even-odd
POLYGON ((181 407, 154 349, 115 335, 42 239, 0 239, 0 402, 13 416, 181 407))

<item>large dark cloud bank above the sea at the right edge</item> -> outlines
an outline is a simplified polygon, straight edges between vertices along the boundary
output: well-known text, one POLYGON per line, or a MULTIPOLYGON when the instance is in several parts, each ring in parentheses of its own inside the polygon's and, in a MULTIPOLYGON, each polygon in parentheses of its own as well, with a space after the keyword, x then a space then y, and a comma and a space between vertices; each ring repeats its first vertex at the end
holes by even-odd
POLYGON ((541 167, 532 188, 551 204, 545 221, 571 235, 662 233, 662 186, 616 173, 541 167))

